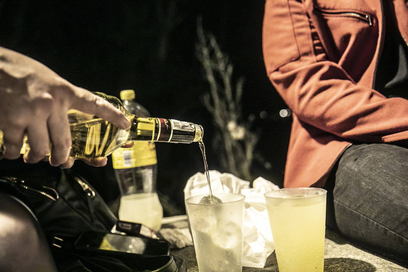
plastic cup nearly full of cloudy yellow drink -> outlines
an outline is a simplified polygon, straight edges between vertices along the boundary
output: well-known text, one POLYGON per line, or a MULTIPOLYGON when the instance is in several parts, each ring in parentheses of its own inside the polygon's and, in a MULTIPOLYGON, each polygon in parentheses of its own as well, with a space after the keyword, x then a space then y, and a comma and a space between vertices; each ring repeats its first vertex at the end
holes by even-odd
POLYGON ((326 192, 288 188, 265 193, 279 272, 323 272, 326 192))

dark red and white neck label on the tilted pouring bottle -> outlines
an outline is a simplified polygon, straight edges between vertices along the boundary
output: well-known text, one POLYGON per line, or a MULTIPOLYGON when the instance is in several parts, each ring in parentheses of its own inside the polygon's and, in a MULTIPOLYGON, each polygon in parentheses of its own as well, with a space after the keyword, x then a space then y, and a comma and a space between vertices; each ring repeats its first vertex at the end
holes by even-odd
POLYGON ((174 119, 156 118, 159 124, 156 142, 172 142, 173 136, 177 135, 175 142, 191 142, 191 135, 195 133, 195 127, 191 123, 174 119), (180 139, 184 137, 185 139, 180 139))

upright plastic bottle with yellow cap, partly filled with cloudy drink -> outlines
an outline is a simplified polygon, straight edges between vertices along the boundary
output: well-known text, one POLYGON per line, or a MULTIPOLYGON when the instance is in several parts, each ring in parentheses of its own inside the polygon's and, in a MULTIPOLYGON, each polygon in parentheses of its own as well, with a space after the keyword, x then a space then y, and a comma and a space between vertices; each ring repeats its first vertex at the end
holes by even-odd
MULTIPOLYGON (((120 99, 129 113, 150 116, 135 101, 133 90, 120 92, 120 99)), ((131 148, 112 153, 112 164, 120 188, 119 219, 142 223, 157 231, 162 225, 163 208, 156 193, 157 158, 154 142, 135 141, 131 148)))

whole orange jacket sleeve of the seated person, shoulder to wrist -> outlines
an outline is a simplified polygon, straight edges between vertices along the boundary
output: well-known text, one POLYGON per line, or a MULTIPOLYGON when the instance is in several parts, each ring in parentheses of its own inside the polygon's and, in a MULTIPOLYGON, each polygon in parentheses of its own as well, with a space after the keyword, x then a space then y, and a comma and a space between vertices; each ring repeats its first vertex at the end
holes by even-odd
POLYGON ((408 100, 386 98, 357 85, 341 65, 328 60, 322 42, 313 38, 317 34, 309 18, 301 1, 266 1, 266 71, 293 113, 302 122, 349 140, 407 139, 408 100))

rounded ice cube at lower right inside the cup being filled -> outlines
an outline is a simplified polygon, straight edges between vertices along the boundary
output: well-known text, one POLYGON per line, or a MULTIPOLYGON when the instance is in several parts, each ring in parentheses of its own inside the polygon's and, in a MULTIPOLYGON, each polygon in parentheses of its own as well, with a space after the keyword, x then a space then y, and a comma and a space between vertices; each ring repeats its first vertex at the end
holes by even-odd
POLYGON ((242 242, 242 228, 231 221, 220 221, 211 232, 211 238, 220 248, 233 248, 242 242))

